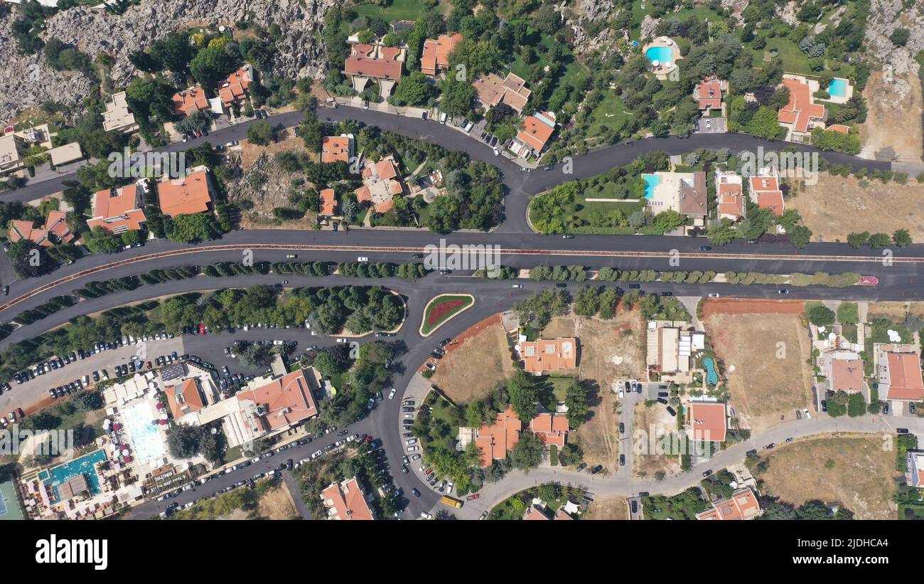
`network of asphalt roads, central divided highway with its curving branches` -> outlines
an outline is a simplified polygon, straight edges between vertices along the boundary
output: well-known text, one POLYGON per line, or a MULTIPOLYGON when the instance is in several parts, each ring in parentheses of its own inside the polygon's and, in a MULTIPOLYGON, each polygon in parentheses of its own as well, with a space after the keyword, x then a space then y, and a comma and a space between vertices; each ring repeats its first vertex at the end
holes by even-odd
MULTIPOLYGON (((617 236, 581 236, 574 239, 563 239, 561 237, 546 237, 532 234, 526 224, 526 207, 529 202, 529 196, 549 189, 554 185, 571 180, 573 178, 595 176, 609 170, 617 165, 631 162, 639 154, 644 152, 663 151, 668 153, 690 152, 698 148, 722 148, 728 147, 733 151, 738 150, 756 150, 758 146, 763 146, 766 150, 780 149, 783 147, 794 146, 792 144, 775 142, 770 143, 765 140, 755 139, 743 134, 696 134, 687 140, 675 138, 668 139, 650 139, 639 140, 633 144, 617 145, 600 151, 590 152, 584 156, 576 157, 573 161, 573 174, 560 172, 559 170, 544 171, 536 170, 531 173, 522 171, 517 164, 503 157, 495 157, 490 148, 481 144, 466 135, 458 132, 456 129, 447 128, 432 121, 425 121, 418 118, 396 117, 388 114, 361 110, 356 108, 337 108, 322 110, 320 115, 332 120, 342 120, 346 118, 357 119, 367 124, 379 126, 380 128, 395 131, 397 133, 418 138, 420 140, 429 140, 445 148, 453 150, 464 150, 476 159, 497 165, 504 175, 504 182, 509 189, 505 201, 505 223, 492 233, 456 233, 446 237, 440 237, 432 233, 425 233, 419 230, 366 230, 351 229, 348 232, 308 232, 308 231, 238 231, 227 234, 221 241, 215 242, 220 245, 235 246, 236 249, 223 249, 220 251, 202 251, 197 246, 183 246, 168 241, 156 241, 143 249, 131 249, 116 256, 99 256, 94 255, 79 260, 73 265, 64 266, 54 274, 48 274, 41 278, 32 278, 27 281, 9 282, 11 286, 11 296, 17 298, 28 293, 37 286, 43 286, 52 283, 59 278, 67 275, 78 274, 88 268, 103 266, 113 261, 139 258, 153 252, 184 250, 182 255, 145 259, 140 262, 128 262, 124 265, 118 265, 106 269, 103 272, 79 277, 73 281, 55 286, 54 288, 36 295, 32 298, 23 300, 18 305, 8 307, 0 311, 0 321, 9 322, 18 312, 32 308, 41 304, 51 296, 72 292, 74 289, 81 287, 91 280, 101 280, 116 278, 129 274, 140 274, 148 272, 155 268, 175 267, 180 265, 198 264, 203 265, 218 261, 238 262, 241 259, 241 250, 247 249, 248 246, 271 246, 273 249, 258 249, 255 254, 257 261, 283 261, 286 253, 286 246, 294 245, 325 245, 325 246, 346 246, 349 249, 333 251, 318 250, 313 252, 299 251, 298 261, 310 260, 327 260, 327 261, 351 261, 355 260, 357 255, 370 257, 371 261, 388 260, 393 262, 407 262, 407 249, 401 251, 387 251, 384 249, 372 250, 373 248, 388 248, 402 246, 406 248, 415 248, 423 250, 428 244, 436 244, 441 238, 448 243, 473 244, 473 245, 496 245, 504 249, 504 255, 501 263, 514 267, 531 267, 539 264, 581 264, 590 267, 601 267, 602 265, 618 266, 623 268, 651 268, 658 270, 676 269, 676 270, 707 270, 711 269, 716 272, 725 272, 734 270, 743 271, 760 271, 769 273, 788 274, 793 272, 815 272, 823 271, 828 273, 838 273, 847 271, 856 271, 862 274, 876 275, 880 278, 879 286, 852 286, 844 289, 835 288, 791 288, 790 294, 786 298, 857 298, 857 299, 904 299, 904 298, 921 298, 924 296, 924 286, 919 285, 919 276, 921 275, 920 262, 894 262, 892 265, 883 265, 882 262, 870 256, 880 256, 877 252, 870 252, 869 249, 855 250, 848 248, 845 244, 834 243, 814 243, 806 249, 792 249, 784 242, 767 242, 759 245, 748 245, 744 242, 735 242, 722 249, 714 249, 708 255, 703 255, 699 251, 699 246, 706 243, 702 238, 694 237, 617 237, 617 236), (649 257, 614 257, 601 255, 602 253, 620 250, 626 252, 644 252, 649 257), (668 263, 666 256, 659 254, 670 254, 676 250, 676 257, 680 259, 679 265, 668 263), (767 259, 755 259, 753 254, 764 254, 770 257, 767 259), (655 257, 658 256, 658 257, 655 257), (794 256, 794 257, 791 257, 794 256), (808 256, 840 256, 839 258, 821 258, 812 259, 808 256)), ((290 113, 281 116, 274 116, 271 121, 282 127, 291 127, 298 124, 301 119, 300 113, 290 113)), ((245 137, 248 124, 241 124, 230 128, 223 128, 214 132, 211 136, 191 143, 172 144, 165 152, 176 152, 195 146, 197 141, 208 140, 213 144, 224 143, 230 140, 241 140, 245 137)), ((808 150, 811 148, 796 146, 798 150, 808 150)), ((840 153, 824 152, 822 157, 830 162, 853 164, 855 168, 865 166, 869 169, 888 169, 888 162, 877 162, 858 159, 840 153)), ((53 180, 40 183, 28 184, 22 189, 4 193, 3 200, 6 201, 30 201, 47 194, 51 194, 62 188, 62 183, 67 179, 73 179, 74 176, 58 176, 53 180)), ((199 246, 201 247, 201 246, 199 246)), ((921 258, 924 257, 924 245, 915 245, 906 249, 895 249, 896 258, 921 258)), ((0 277, 5 277, 4 271, 0 270, 0 277)), ((79 314, 90 314, 95 311, 105 310, 114 306, 125 304, 127 302, 140 300, 144 298, 154 298, 157 296, 176 294, 195 289, 213 289, 224 286, 250 286, 252 284, 263 283, 273 284, 281 277, 290 281, 290 286, 332 286, 346 284, 365 284, 365 285, 383 285, 398 290, 407 297, 408 301, 408 320, 397 335, 396 340, 404 341, 407 345, 407 353, 401 356, 400 366, 395 372, 393 383, 398 388, 399 395, 394 400, 385 399, 382 404, 376 408, 371 416, 366 420, 350 426, 351 433, 371 433, 371 435, 382 438, 384 447, 393 467, 396 469, 395 461, 400 459, 404 452, 400 432, 397 431, 400 416, 400 397, 404 394, 412 375, 417 371, 417 367, 422 364, 432 350, 435 341, 421 342, 417 333, 419 323, 422 319, 422 307, 426 299, 431 298, 436 293, 442 292, 461 292, 465 291, 476 296, 476 304, 472 309, 467 310, 462 316, 446 323, 441 328, 438 335, 455 336, 464 331, 468 326, 480 319, 485 318, 492 313, 500 310, 509 309, 518 299, 526 298, 531 293, 540 288, 553 286, 552 283, 523 282, 524 287, 521 289, 511 288, 509 281, 480 280, 470 278, 441 277, 431 274, 417 282, 406 281, 382 281, 382 280, 365 280, 358 278, 341 278, 331 276, 330 278, 308 278, 295 274, 286 274, 278 276, 270 274, 267 276, 247 275, 230 278, 207 278, 201 276, 195 279, 169 282, 157 286, 142 286, 138 290, 130 292, 120 292, 105 296, 103 298, 94 298, 80 302, 76 307, 62 310, 51 317, 32 325, 21 327, 13 335, 10 335, 2 343, 0 349, 6 347, 15 340, 21 340, 28 336, 38 335, 57 324, 66 322, 67 319, 79 314)), ((575 285, 570 285, 572 289, 575 285)), ((661 292, 670 290, 678 296, 703 296, 709 292, 720 292, 723 296, 735 296, 740 298, 780 298, 777 294, 777 286, 730 286, 730 285, 674 285, 669 283, 651 283, 642 285, 642 289, 652 292, 661 292)), ((201 342, 201 348, 188 348, 187 352, 201 353, 203 357, 212 354, 213 351, 220 351, 221 347, 230 345, 235 337, 232 335, 209 335, 201 341, 195 339, 190 343, 201 342)), ((184 340, 186 342, 186 340, 184 340)), ((312 344, 321 345, 320 342, 312 344)), ((220 360, 220 359, 215 359, 220 360)), ((215 363, 219 365, 219 363, 215 363)), ((14 387, 14 392, 16 391, 14 387)), ((876 420, 872 418, 860 419, 856 423, 862 425, 868 423, 866 420, 876 420)), ((854 420, 850 420, 854 421, 854 420)), ((916 420, 912 420, 916 421, 916 420)), ((843 422, 842 422, 843 423, 843 422)), ((873 423, 873 422, 869 422, 873 423)), ((888 422, 877 422, 880 426, 888 422)), ((916 422, 917 423, 917 422, 916 422)), ((837 428, 836 420, 815 420, 794 429, 805 432, 825 432, 828 426, 837 428)), ((876 430, 880 430, 876 426, 876 430)), ((866 426, 862 426, 866 428, 866 426)), ((789 429, 781 426, 773 429, 770 434, 771 440, 780 440, 772 438, 773 432, 786 432, 789 429)), ((864 430, 858 430, 860 432, 864 430)), ((798 434, 806 435, 806 434, 798 434)), ((760 441, 764 441, 767 436, 760 436, 760 441)), ((754 440, 758 440, 756 437, 754 440)), ((322 444, 326 444, 321 441, 322 444)), ((331 441, 333 442, 333 440, 331 441)), ((748 444, 748 447, 750 444, 748 444)), ((318 443, 307 444, 300 450, 286 451, 285 456, 275 456, 269 461, 261 461, 257 465, 252 465, 246 471, 238 471, 239 477, 234 475, 221 477, 207 483, 203 487, 197 487, 195 491, 185 492, 175 501, 183 504, 193 498, 199 498, 207 494, 211 489, 212 492, 227 486, 234 481, 240 481, 244 476, 251 476, 256 472, 263 472, 269 468, 280 464, 279 458, 283 461, 286 457, 298 459, 304 457, 318 449, 318 443)), ((746 450, 745 445, 738 444, 728 451, 724 451, 719 456, 728 456, 738 458, 746 450), (740 450, 740 453, 737 452, 740 450)), ((715 464, 721 460, 714 461, 715 464)), ((626 468, 631 468, 627 466, 626 468)), ((721 467, 716 467, 721 468, 721 467)), ((501 483, 493 483, 485 487, 482 491, 482 497, 478 500, 478 505, 489 505, 496 502, 497 498, 493 495, 497 493, 509 493, 520 490, 520 484, 528 482, 545 481, 550 476, 565 477, 567 480, 585 481, 588 475, 574 476, 567 471, 556 469, 546 471, 538 469, 527 475, 521 473, 512 473, 507 480, 501 483)), ((411 473, 403 475, 400 472, 393 472, 395 484, 404 490, 408 500, 407 515, 409 517, 418 517, 422 510, 429 510, 438 500, 438 495, 433 493, 426 485, 423 485, 416 476, 411 473), (416 487, 422 493, 417 498, 410 495, 410 489, 416 487)), ((648 490, 651 493, 660 493, 668 490, 675 491, 683 488, 684 485, 699 481, 699 475, 696 472, 685 473, 679 477, 665 480, 663 483, 651 483, 652 481, 634 481, 628 477, 626 471, 616 471, 611 477, 593 477, 590 479, 590 486, 598 492, 613 493, 636 493, 638 490, 648 490), (651 483, 651 484, 649 484, 651 483)), ((161 504, 163 505, 163 504, 161 504)), ((478 505, 468 504, 464 509, 477 509, 478 505)), ((151 515, 160 509, 156 502, 148 502, 141 505, 133 512, 133 517, 144 517, 145 514, 151 515)))

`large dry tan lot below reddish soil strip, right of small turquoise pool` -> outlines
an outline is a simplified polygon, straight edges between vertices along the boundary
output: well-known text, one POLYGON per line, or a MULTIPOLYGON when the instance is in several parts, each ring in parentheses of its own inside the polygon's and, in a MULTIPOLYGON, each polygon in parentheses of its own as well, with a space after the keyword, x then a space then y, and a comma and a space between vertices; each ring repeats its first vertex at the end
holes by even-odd
POLYGON ((763 432, 811 401, 811 347, 796 314, 712 314, 705 321, 741 428, 763 432))

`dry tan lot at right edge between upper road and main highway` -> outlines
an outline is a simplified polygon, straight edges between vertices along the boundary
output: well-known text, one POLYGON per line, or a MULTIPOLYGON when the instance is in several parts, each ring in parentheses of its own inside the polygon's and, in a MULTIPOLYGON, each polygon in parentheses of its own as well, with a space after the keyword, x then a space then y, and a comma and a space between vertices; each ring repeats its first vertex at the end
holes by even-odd
POLYGON ((902 228, 915 241, 924 237, 924 184, 914 176, 901 185, 820 173, 818 184, 803 185, 796 191, 796 196, 786 201, 786 208, 802 215, 813 239, 846 241, 855 231, 892 235, 902 228))

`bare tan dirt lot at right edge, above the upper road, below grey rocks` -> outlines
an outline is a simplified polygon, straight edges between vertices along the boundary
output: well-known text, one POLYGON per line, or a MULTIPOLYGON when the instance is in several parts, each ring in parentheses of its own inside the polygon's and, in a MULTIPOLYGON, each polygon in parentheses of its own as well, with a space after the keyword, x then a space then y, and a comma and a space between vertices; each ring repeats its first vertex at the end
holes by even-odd
POLYGON ((881 71, 874 71, 869 76, 863 91, 869 115, 860 127, 860 139, 863 140, 860 156, 919 163, 921 137, 924 135, 921 131, 924 100, 921 99, 920 79, 918 75, 908 73, 906 77, 896 76, 895 81, 884 81, 881 71), (899 87, 907 87, 907 91, 897 91, 899 87))

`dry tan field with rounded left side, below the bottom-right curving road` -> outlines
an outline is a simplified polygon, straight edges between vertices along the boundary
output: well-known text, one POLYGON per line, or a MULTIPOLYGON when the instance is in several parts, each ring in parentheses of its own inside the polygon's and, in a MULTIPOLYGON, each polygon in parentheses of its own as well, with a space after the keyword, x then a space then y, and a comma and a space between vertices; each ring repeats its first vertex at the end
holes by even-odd
POLYGON ((880 438, 820 437, 784 444, 761 475, 766 489, 793 505, 840 502, 857 519, 894 519, 895 453, 880 438))

